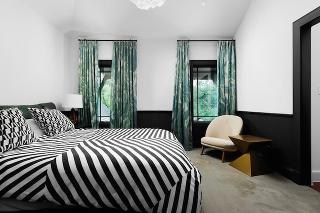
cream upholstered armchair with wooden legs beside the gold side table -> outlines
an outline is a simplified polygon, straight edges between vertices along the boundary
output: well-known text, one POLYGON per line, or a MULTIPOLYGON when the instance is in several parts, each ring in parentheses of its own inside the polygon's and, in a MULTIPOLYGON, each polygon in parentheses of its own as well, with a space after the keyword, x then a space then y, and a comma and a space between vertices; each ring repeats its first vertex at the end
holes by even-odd
POLYGON ((243 121, 236 115, 221 115, 210 122, 201 138, 202 155, 204 147, 211 147, 222 151, 221 162, 224 162, 226 152, 237 151, 237 147, 228 136, 242 133, 243 121))

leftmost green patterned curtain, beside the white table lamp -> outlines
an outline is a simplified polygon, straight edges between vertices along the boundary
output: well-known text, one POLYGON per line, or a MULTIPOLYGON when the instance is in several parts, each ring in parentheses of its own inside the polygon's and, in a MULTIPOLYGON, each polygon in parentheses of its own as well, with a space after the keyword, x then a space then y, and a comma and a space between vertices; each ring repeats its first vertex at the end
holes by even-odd
POLYGON ((98 128, 97 98, 99 88, 98 42, 79 41, 78 92, 82 94, 83 108, 79 108, 79 122, 98 128))

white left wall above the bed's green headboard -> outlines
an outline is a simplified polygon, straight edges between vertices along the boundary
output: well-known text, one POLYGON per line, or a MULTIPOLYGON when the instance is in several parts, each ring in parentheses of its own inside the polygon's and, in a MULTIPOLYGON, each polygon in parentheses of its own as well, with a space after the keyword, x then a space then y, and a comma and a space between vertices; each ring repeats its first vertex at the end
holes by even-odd
POLYGON ((54 102, 63 93, 64 36, 16 0, 0 1, 0 105, 54 102))

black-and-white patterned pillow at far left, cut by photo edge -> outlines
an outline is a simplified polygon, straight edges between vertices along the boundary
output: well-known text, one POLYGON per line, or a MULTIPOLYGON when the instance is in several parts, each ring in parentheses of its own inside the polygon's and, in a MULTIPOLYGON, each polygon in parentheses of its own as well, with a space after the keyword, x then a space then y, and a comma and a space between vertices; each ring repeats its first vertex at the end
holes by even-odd
POLYGON ((0 153, 35 140, 21 110, 16 107, 0 109, 0 153))

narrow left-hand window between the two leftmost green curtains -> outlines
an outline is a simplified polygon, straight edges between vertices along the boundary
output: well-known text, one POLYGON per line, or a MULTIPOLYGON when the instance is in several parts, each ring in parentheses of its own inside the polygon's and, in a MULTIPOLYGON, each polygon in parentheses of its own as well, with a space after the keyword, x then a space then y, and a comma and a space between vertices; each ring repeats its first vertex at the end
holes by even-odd
POLYGON ((110 121, 111 100, 111 62, 112 60, 99 60, 99 98, 98 119, 99 122, 110 121))

